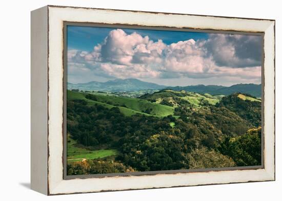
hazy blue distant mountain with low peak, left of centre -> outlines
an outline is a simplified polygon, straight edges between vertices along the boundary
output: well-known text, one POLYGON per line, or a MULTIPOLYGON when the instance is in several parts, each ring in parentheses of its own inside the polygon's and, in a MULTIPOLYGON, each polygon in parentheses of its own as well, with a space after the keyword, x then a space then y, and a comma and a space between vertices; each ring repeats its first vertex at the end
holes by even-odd
POLYGON ((151 82, 143 82, 138 79, 115 79, 107 82, 87 82, 87 83, 68 83, 68 90, 78 89, 83 91, 140 91, 140 90, 160 90, 167 86, 158 85, 151 82))

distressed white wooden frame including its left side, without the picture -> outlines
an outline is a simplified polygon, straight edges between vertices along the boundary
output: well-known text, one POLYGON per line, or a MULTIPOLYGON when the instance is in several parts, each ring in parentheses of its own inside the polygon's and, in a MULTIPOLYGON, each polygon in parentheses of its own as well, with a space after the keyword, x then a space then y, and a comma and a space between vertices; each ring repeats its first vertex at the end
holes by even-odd
POLYGON ((275 20, 46 6, 31 12, 31 188, 46 195, 275 180, 275 20), (64 177, 64 22, 264 34, 263 166, 64 177))

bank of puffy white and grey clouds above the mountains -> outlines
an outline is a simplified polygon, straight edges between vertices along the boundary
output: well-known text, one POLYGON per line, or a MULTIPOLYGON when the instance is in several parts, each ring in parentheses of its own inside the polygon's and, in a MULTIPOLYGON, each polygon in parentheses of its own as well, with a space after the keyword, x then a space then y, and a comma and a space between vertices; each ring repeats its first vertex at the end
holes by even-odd
POLYGON ((115 78, 259 79, 260 38, 251 35, 209 34, 206 40, 166 44, 122 29, 109 32, 92 52, 69 50, 68 68, 115 78))

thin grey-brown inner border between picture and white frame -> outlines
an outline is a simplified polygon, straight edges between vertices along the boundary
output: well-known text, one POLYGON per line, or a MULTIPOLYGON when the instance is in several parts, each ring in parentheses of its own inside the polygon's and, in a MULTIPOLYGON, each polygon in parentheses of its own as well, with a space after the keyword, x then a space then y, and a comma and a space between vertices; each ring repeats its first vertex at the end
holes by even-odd
POLYGON ((114 176, 141 176, 141 175, 157 175, 157 174, 176 174, 189 172, 210 172, 223 170, 257 170, 264 169, 264 100, 265 100, 265 51, 264 51, 264 32, 244 32, 244 31, 228 31, 214 29, 192 29, 192 28, 176 28, 163 26, 140 26, 128 24, 105 24, 92 22, 75 22, 63 21, 63 180, 71 180, 74 178, 103 178, 114 176), (180 169, 180 170, 161 170, 161 171, 143 171, 143 172, 125 172, 125 173, 105 173, 105 174, 85 174, 85 175, 67 175, 67 26, 81 27, 100 27, 100 28, 121 28, 121 29, 145 29, 145 30, 162 30, 162 31, 183 31, 183 32, 201 32, 201 33, 221 33, 221 34, 241 34, 241 35, 257 35, 261 36, 261 165, 258 166, 239 166, 239 167, 224 167, 224 168, 205 168, 205 169, 180 169))

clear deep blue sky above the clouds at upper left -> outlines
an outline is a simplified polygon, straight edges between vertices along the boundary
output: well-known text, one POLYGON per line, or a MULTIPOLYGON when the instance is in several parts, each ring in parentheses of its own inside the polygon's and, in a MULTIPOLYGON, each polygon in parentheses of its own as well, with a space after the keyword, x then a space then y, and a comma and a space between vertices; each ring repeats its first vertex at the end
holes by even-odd
MULTIPOLYGON (((68 49, 76 49, 81 51, 92 51, 93 47, 104 40, 110 31, 116 28, 105 27, 82 27, 68 26, 67 41, 68 49)), ((137 32, 143 37, 149 36, 153 41, 162 39, 164 43, 171 44, 179 40, 185 41, 193 38, 207 39, 208 33, 187 32, 187 31, 163 31, 163 30, 147 30, 147 29, 123 29, 127 34, 137 32)))

